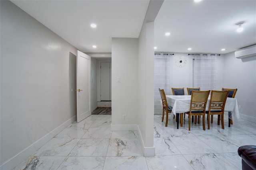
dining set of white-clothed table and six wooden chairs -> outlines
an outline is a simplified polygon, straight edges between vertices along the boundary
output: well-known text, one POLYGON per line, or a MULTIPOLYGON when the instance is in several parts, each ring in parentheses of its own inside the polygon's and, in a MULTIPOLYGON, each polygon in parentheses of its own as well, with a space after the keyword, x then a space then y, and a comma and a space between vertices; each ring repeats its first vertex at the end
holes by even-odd
POLYGON ((235 98, 237 89, 222 88, 221 90, 200 90, 200 88, 171 88, 172 95, 166 95, 164 89, 158 89, 162 104, 162 122, 168 126, 168 119, 175 119, 176 128, 183 126, 183 122, 188 121, 188 130, 191 123, 200 124, 205 130, 210 126, 221 125, 224 129, 224 115, 228 121, 228 127, 233 124, 233 118, 240 118, 240 107, 235 98), (186 115, 188 117, 186 118, 186 115), (214 122, 214 115, 218 116, 214 122), (202 119, 202 120, 201 120, 202 119))

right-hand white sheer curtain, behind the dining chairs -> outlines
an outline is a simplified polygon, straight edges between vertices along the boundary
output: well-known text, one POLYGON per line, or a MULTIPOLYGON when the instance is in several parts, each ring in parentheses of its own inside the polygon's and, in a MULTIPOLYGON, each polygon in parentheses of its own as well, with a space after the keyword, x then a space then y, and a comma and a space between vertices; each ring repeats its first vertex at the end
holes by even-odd
POLYGON ((195 55, 193 66, 193 87, 201 90, 215 90, 216 55, 195 55))

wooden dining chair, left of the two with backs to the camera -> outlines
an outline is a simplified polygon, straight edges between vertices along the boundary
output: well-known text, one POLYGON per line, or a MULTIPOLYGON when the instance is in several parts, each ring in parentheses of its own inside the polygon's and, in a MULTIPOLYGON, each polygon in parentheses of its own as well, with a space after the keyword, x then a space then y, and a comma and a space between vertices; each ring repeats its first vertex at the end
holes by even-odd
MULTIPOLYGON (((210 90, 208 91, 192 91, 191 94, 191 102, 190 102, 190 110, 186 112, 188 114, 188 130, 190 131, 191 124, 191 116, 203 116, 203 129, 205 131, 205 111, 206 104, 208 100, 208 96, 210 94, 210 90)), ((195 120, 196 121, 196 120, 195 120)))

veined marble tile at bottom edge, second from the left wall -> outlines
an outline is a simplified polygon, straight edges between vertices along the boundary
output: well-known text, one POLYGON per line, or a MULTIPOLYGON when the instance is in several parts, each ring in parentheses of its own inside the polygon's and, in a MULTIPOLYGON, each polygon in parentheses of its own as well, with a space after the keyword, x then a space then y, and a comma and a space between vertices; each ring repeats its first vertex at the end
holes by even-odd
POLYGON ((68 156, 58 170, 102 170, 104 156, 68 156))

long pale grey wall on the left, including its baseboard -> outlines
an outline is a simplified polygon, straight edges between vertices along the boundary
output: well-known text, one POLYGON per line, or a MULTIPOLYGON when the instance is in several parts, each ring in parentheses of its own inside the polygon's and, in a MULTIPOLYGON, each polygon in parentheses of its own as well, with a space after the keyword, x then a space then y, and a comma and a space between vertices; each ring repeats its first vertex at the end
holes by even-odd
POLYGON ((1 169, 12 169, 75 120, 77 52, 12 2, 0 3, 1 169))

